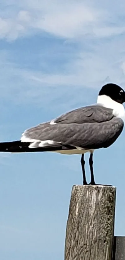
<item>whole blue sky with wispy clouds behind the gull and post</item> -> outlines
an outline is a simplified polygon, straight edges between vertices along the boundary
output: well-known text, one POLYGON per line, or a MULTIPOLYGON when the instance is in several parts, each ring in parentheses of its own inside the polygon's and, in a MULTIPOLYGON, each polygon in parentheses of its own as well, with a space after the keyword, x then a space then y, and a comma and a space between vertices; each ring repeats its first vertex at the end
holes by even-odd
MULTIPOLYGON (((1 0, 0 140, 125 89, 125 2, 1 0)), ((117 186, 115 235, 125 235, 125 131, 94 154, 96 182, 117 186)), ((86 155, 88 160, 88 155, 86 155)), ((86 164, 89 181, 88 162, 86 164)), ((0 154, 2 260, 63 260, 79 155, 0 154)))

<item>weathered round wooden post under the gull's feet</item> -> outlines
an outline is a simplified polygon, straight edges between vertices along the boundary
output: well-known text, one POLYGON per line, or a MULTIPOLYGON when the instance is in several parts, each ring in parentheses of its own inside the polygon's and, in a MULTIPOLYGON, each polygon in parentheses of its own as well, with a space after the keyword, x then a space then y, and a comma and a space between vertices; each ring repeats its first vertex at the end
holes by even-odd
POLYGON ((73 186, 65 260, 112 260, 116 188, 73 186))

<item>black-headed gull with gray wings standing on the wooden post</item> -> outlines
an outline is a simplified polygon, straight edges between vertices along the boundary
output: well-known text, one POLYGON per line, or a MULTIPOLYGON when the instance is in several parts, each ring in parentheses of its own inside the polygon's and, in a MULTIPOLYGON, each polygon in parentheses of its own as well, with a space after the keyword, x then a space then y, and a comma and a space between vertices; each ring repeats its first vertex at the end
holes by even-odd
POLYGON ((40 123, 22 133, 20 141, 0 143, 1 152, 56 152, 81 154, 83 185, 97 185, 93 172, 93 153, 111 146, 123 131, 125 91, 114 83, 101 87, 97 102, 40 123), (85 174, 84 154, 89 152, 91 182, 85 174))

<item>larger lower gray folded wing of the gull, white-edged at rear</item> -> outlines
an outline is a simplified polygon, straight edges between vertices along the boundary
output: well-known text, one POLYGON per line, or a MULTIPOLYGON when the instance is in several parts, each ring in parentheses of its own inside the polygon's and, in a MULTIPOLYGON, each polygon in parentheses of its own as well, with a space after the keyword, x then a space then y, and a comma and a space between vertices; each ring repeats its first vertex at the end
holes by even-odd
MULTIPOLYGON (((56 144, 78 146, 83 149, 108 147, 123 130, 123 120, 112 118, 102 123, 43 123, 25 131, 25 138, 36 140, 34 147, 56 144)), ((34 148, 32 146, 32 148, 34 148)))

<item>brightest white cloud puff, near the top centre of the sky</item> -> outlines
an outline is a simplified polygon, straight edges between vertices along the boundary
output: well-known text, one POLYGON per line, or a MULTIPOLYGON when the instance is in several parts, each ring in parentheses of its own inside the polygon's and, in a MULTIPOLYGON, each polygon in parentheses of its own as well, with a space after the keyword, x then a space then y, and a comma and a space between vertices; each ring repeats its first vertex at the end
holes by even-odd
POLYGON ((98 20, 97 13, 83 4, 67 4, 45 13, 36 27, 65 38, 74 38, 87 33, 86 26, 98 20))

